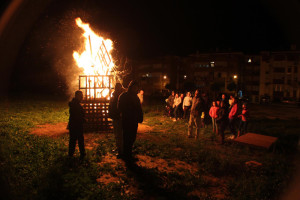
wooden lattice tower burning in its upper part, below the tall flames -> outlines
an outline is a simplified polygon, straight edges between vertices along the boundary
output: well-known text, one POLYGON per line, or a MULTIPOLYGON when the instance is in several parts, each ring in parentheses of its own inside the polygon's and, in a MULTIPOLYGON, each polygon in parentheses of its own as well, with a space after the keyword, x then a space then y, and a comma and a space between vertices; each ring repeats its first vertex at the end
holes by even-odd
POLYGON ((79 76, 79 90, 83 93, 81 105, 86 118, 84 132, 112 132, 112 120, 108 117, 108 107, 113 83, 113 75, 79 76))

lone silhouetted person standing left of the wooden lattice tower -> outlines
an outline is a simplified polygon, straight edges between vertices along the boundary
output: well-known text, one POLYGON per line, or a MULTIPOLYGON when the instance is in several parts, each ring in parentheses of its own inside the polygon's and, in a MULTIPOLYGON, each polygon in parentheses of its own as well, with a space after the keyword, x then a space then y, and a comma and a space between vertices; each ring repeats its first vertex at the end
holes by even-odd
POLYGON ((75 92, 75 98, 69 102, 69 156, 72 157, 75 152, 76 141, 78 140, 78 146, 80 151, 80 158, 83 159, 85 156, 84 149, 84 137, 83 137, 83 123, 84 119, 84 110, 80 105, 80 102, 83 99, 83 94, 80 90, 75 92))

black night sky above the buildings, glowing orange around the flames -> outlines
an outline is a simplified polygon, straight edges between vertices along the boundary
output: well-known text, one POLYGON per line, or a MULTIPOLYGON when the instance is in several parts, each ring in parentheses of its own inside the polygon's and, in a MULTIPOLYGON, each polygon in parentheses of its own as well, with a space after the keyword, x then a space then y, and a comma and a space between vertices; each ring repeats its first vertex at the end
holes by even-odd
MULTIPOLYGON (((9 2, 1 1, 0 11, 9 2)), ((45 88, 47 79, 54 80, 54 88, 64 87, 62 77, 73 72, 66 66, 72 65, 73 50, 81 44, 76 17, 113 40, 118 58, 187 56, 216 49, 259 53, 287 50, 291 44, 300 46, 297 0, 57 0, 26 37, 13 74, 18 81, 12 87, 29 88, 26 84, 37 78, 42 79, 36 80, 40 88, 45 88)))

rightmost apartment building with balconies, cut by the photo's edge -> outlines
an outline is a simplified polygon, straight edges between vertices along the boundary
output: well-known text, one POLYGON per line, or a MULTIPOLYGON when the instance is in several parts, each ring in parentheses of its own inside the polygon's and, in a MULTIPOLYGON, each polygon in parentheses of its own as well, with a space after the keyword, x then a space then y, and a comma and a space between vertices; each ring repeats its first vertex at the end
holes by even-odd
POLYGON ((261 52, 259 94, 273 101, 300 98, 300 52, 261 52))

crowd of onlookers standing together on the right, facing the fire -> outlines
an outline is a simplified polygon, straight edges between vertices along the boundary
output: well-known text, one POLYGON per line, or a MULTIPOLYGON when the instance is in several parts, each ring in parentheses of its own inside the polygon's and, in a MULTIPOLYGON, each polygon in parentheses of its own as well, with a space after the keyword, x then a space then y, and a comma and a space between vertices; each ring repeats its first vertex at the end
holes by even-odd
POLYGON ((188 137, 198 138, 201 128, 211 124, 212 132, 219 136, 220 143, 224 143, 224 132, 228 127, 234 138, 247 132, 249 122, 249 109, 247 103, 242 103, 242 110, 237 98, 232 95, 227 98, 225 94, 221 98, 210 100, 208 95, 199 90, 194 92, 175 93, 166 101, 166 113, 168 117, 177 121, 179 119, 188 120, 188 137), (195 128, 195 131, 193 129, 195 128))

